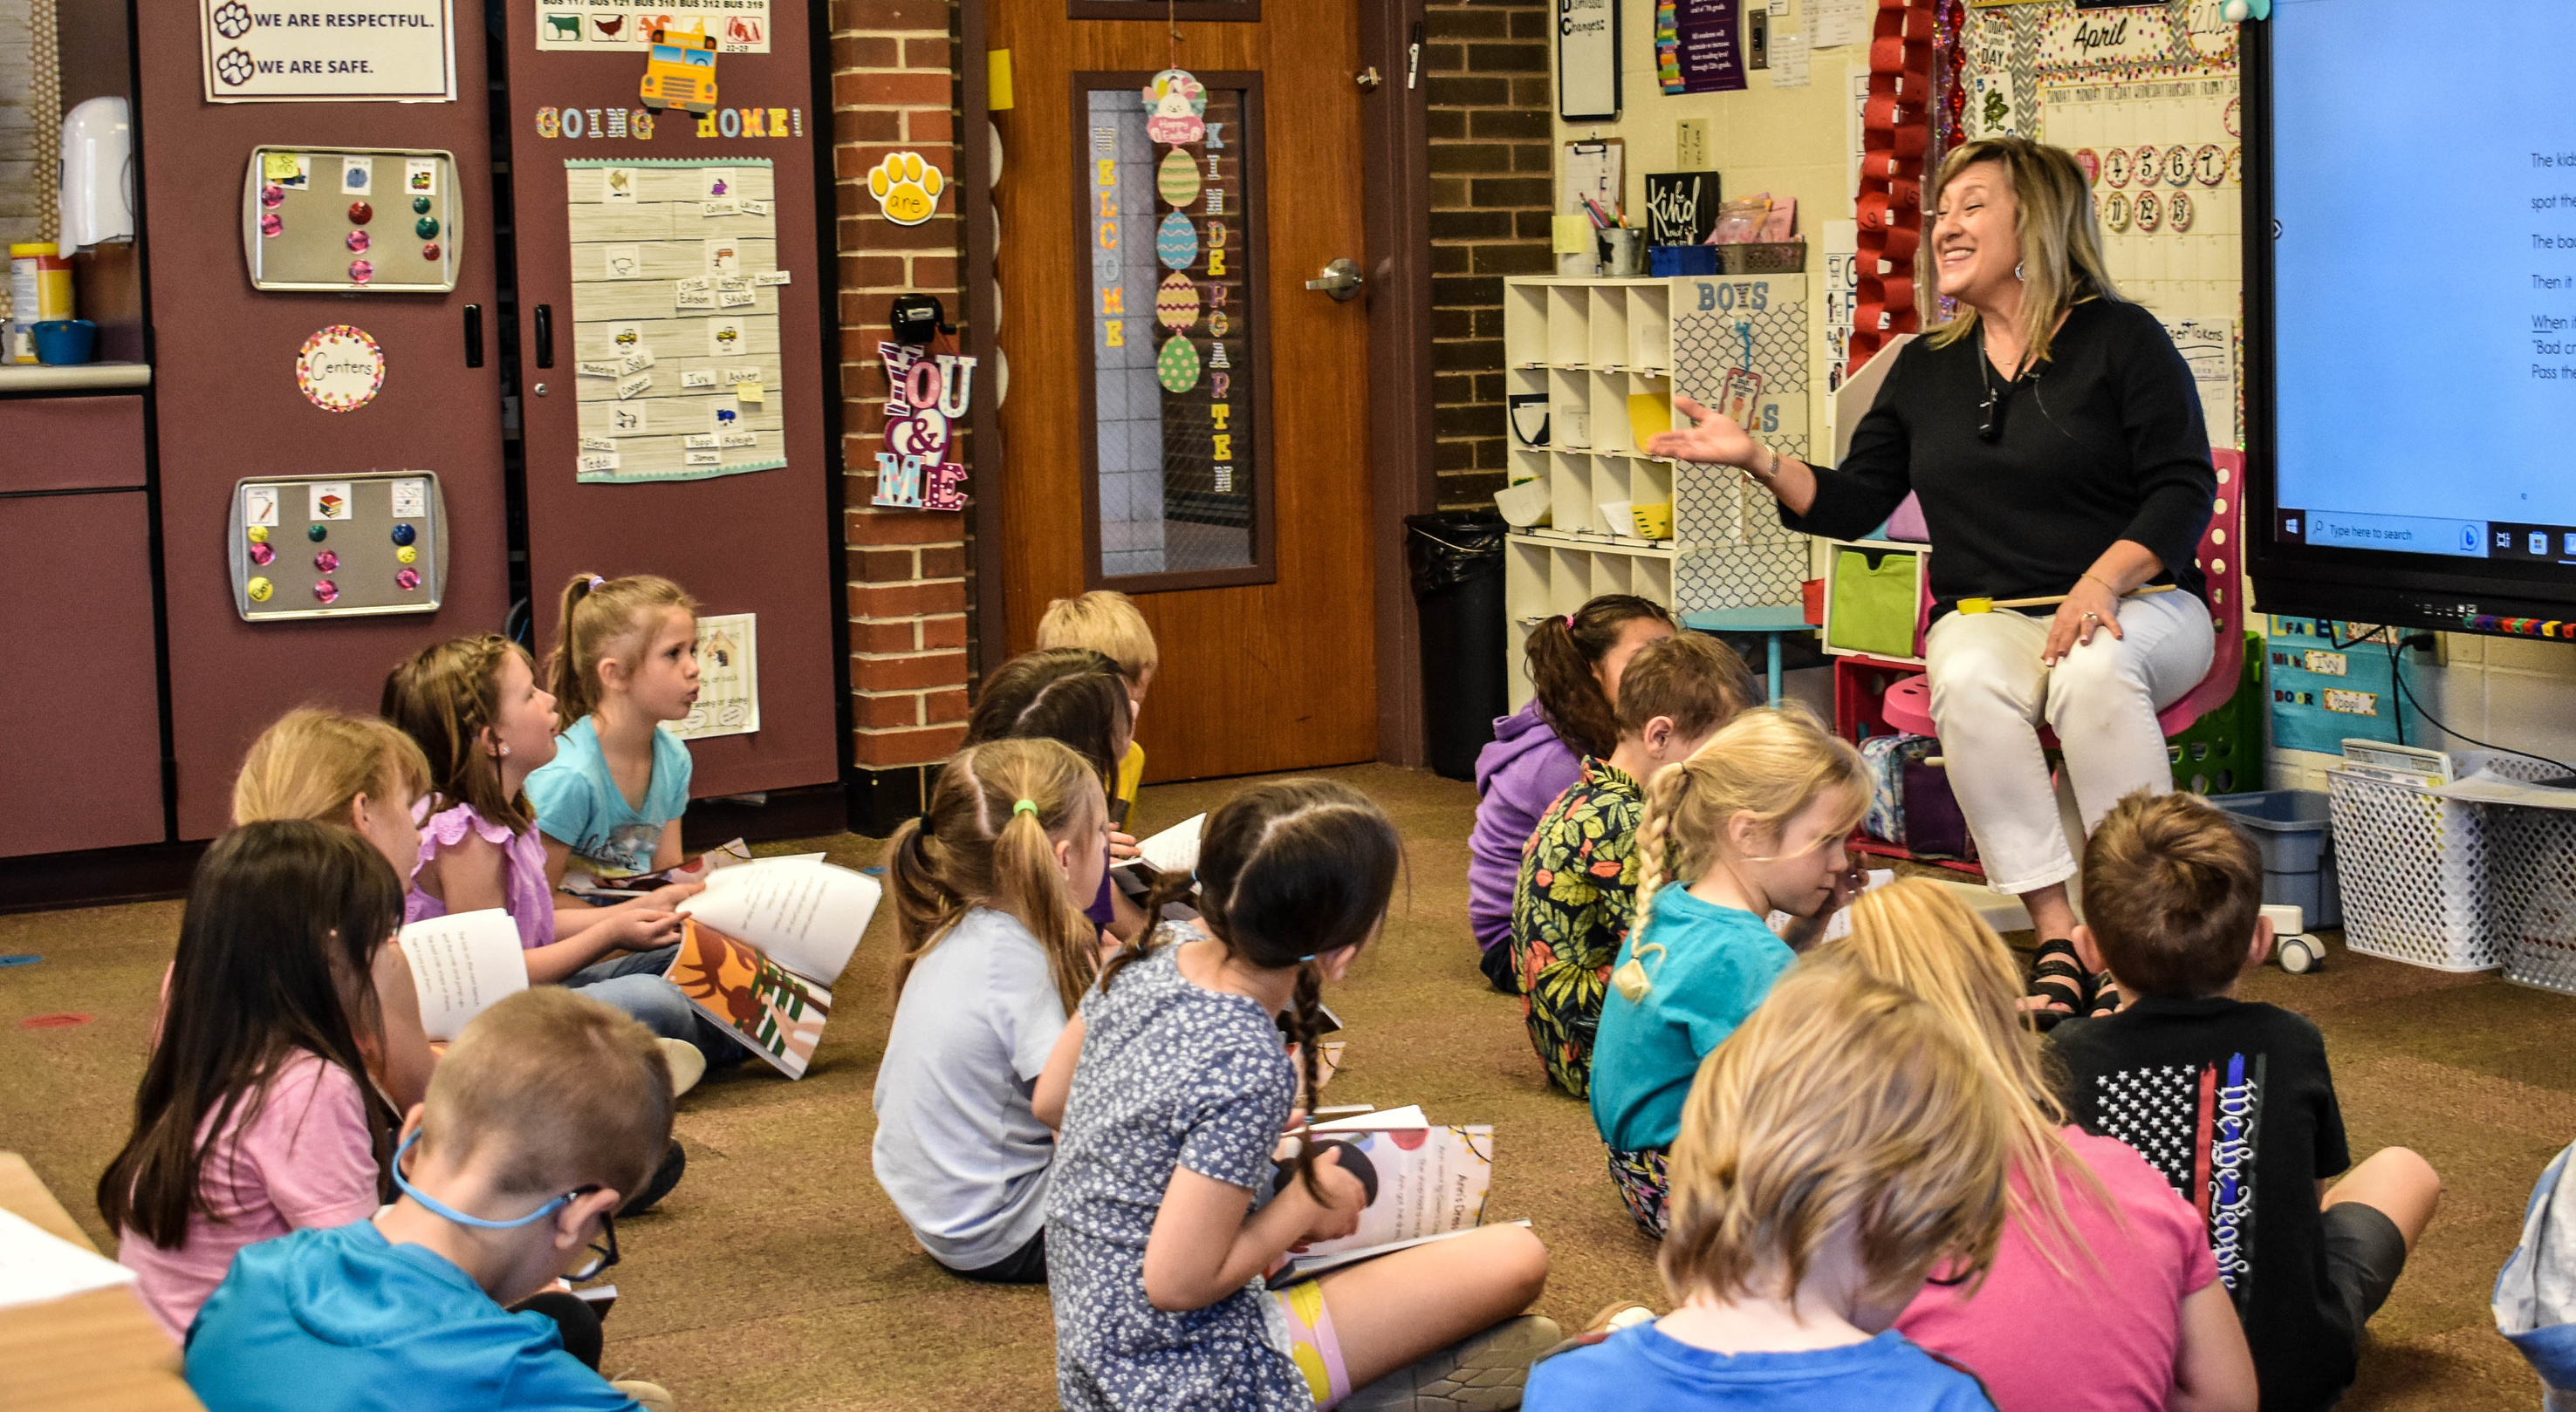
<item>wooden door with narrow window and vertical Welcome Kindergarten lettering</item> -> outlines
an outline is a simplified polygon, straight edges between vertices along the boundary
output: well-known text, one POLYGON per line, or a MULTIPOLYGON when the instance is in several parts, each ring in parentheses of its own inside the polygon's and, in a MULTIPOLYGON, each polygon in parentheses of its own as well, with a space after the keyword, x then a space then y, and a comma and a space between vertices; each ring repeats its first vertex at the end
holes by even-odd
POLYGON ((992 0, 1005 636, 1131 593, 1162 644, 1149 778, 1373 760, 1368 307, 1306 289, 1363 258, 1358 0, 1180 15, 992 0), (1195 139, 1146 106, 1167 67, 1200 82, 1195 139))

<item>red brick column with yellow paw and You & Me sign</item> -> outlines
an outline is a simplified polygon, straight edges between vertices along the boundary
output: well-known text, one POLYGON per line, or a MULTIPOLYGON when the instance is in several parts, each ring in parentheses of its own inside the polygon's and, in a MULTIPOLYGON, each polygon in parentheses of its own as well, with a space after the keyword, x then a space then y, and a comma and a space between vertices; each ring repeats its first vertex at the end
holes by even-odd
MULTIPOLYGON (((886 340, 896 294, 935 294, 958 314, 958 193, 927 224, 889 222, 868 193, 886 152, 920 152, 956 178, 953 0, 832 0, 832 170, 840 193, 840 397, 848 474, 853 822, 884 832, 920 809, 925 765, 966 734, 966 518, 878 510, 886 340)), ((969 461, 971 464, 971 461, 969 461)))

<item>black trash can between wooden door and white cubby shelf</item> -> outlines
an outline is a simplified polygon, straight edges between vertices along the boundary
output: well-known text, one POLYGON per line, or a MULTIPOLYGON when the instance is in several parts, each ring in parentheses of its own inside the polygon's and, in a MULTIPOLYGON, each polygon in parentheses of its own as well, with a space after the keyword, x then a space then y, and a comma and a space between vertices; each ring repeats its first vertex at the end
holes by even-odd
POLYGON ((1422 729, 1432 773, 1476 778, 1476 752, 1510 706, 1497 510, 1404 515, 1404 557, 1422 616, 1422 729))

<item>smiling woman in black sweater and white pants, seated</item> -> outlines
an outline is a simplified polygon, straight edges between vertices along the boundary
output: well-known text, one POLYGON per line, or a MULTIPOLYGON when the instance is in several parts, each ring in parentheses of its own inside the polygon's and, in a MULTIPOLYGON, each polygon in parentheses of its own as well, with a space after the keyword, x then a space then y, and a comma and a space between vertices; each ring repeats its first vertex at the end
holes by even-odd
MULTIPOLYGON (((1839 466, 1757 443, 1698 402, 1654 456, 1739 466, 1780 523, 1857 539, 1906 492, 1932 533, 1932 721, 1950 788, 1996 892, 2022 897, 2045 946, 2074 933, 2076 858, 2038 724, 2066 752, 2084 830, 2120 796, 2172 788, 2156 711, 2210 670, 2192 551, 2218 472, 2174 340, 2120 299, 2084 167, 2020 137, 1950 152, 1932 180, 1927 255, 1950 320, 1896 353, 1839 466), (2138 593, 2172 585, 2169 593, 2138 593), (1960 613, 1960 598, 2066 595, 2056 608, 1960 613)), ((1927 281, 1929 283, 1929 281, 1927 281)), ((2071 948, 2066 948, 2071 951, 2071 948)), ((2071 971, 2071 966, 2069 966, 2071 971)), ((2066 974, 2056 966, 2043 971, 2066 974)), ((2074 987, 2048 987, 2074 1005, 2074 987)))

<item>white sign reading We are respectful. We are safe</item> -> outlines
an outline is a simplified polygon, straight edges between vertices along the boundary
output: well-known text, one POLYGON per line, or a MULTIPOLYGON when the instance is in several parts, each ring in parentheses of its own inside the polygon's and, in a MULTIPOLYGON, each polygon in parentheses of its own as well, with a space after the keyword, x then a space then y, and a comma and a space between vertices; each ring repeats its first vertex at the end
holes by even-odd
POLYGON ((209 103, 453 103, 451 0, 198 0, 209 103))

